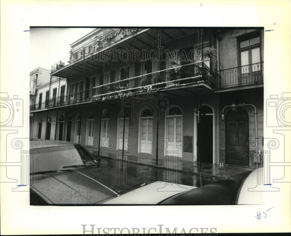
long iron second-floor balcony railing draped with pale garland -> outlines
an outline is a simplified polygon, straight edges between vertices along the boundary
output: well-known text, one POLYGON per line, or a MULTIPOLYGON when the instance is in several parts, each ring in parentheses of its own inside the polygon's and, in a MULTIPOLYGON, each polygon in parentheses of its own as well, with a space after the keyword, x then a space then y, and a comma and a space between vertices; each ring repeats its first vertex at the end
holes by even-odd
POLYGON ((128 93, 157 91, 168 87, 191 86, 197 82, 204 82, 212 88, 217 88, 219 80, 220 76, 211 71, 203 62, 195 62, 61 95, 31 105, 30 110, 114 98, 128 93))

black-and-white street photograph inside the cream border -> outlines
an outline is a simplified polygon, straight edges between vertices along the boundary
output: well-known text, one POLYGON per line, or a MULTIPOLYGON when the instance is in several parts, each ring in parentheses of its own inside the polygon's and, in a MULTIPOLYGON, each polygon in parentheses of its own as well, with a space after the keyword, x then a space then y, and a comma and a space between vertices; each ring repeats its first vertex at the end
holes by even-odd
POLYGON ((262 28, 30 34, 31 205, 263 203, 262 28))

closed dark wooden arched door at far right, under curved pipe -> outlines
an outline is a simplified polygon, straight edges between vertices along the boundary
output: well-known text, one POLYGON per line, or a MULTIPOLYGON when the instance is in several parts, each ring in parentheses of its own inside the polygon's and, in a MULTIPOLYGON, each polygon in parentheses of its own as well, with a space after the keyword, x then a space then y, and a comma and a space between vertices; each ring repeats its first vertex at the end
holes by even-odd
POLYGON ((241 108, 226 114, 226 164, 249 166, 249 116, 241 108))

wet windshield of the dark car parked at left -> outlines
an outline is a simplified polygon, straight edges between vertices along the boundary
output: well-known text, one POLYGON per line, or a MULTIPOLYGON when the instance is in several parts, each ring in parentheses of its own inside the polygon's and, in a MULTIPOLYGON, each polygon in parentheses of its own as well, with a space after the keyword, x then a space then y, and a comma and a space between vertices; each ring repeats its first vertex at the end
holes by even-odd
POLYGON ((65 170, 97 162, 78 145, 54 146, 36 149, 31 156, 30 173, 65 170))

